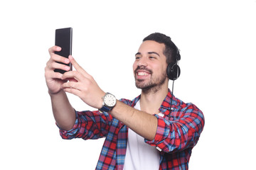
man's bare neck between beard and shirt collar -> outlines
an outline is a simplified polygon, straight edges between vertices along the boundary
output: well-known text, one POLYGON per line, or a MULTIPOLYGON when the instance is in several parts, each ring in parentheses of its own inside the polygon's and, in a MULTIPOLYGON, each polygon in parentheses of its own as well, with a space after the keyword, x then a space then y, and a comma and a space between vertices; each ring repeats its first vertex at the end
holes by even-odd
POLYGON ((141 110, 149 113, 151 115, 159 113, 159 108, 161 103, 163 103, 164 98, 168 94, 168 83, 163 84, 158 91, 143 91, 140 98, 141 110))

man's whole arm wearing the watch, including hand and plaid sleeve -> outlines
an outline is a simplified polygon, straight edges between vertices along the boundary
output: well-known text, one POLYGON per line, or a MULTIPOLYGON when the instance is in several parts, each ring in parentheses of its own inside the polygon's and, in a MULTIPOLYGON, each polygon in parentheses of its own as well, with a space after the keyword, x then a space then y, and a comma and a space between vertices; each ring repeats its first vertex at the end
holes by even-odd
MULTIPOLYGON (((79 66, 72 56, 69 57, 77 71, 65 72, 63 79, 75 79, 63 84, 63 90, 79 96, 87 105, 94 108, 102 107, 102 96, 105 92, 100 89, 95 80, 79 66)), ((183 110, 175 121, 138 111, 117 101, 110 114, 122 121, 129 128, 146 138, 149 145, 157 146, 164 152, 174 152, 178 149, 193 147, 203 130, 203 113, 197 108, 188 107, 183 110)))

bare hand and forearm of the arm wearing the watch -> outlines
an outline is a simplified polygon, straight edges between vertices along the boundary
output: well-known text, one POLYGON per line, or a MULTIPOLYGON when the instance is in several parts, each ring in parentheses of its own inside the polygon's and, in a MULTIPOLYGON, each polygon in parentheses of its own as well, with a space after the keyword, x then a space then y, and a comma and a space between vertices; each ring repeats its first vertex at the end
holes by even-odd
MULTIPOLYGON (((79 96, 82 101, 93 108, 102 107, 102 96, 105 92, 100 89, 96 81, 87 74, 82 67, 74 60, 72 56, 69 57, 71 64, 76 71, 65 72, 62 79, 75 79, 76 81, 68 81, 62 85, 63 90, 79 96)), ((127 106, 121 101, 117 101, 116 106, 110 114, 122 121, 129 128, 137 132, 142 137, 152 140, 156 135, 157 119, 154 115, 149 115, 143 111, 127 106)))

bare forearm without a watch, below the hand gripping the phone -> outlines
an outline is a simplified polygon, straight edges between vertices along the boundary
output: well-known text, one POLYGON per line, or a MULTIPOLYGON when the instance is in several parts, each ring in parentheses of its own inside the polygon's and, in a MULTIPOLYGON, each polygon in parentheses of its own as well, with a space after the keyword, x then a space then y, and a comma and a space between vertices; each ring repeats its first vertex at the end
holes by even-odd
POLYGON ((53 108, 53 116, 57 125, 63 130, 70 130, 75 123, 75 111, 68 101, 64 91, 58 94, 50 94, 53 108))

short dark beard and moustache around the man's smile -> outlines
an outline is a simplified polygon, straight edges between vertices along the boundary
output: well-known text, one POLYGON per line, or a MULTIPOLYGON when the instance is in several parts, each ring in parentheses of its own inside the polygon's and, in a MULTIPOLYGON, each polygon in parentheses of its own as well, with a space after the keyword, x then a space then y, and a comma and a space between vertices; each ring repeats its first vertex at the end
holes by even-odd
POLYGON ((154 77, 153 72, 150 69, 146 69, 145 67, 137 67, 134 71, 134 78, 135 78, 135 85, 138 89, 142 89, 142 92, 145 94, 153 93, 155 94, 157 91, 159 91, 162 88, 162 85, 166 81, 167 74, 164 72, 159 77, 154 77), (145 79, 137 79, 136 73, 138 69, 144 69, 145 71, 149 72, 151 74, 151 78, 149 81, 145 79), (147 82, 146 82, 147 81, 147 82))

